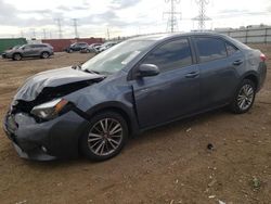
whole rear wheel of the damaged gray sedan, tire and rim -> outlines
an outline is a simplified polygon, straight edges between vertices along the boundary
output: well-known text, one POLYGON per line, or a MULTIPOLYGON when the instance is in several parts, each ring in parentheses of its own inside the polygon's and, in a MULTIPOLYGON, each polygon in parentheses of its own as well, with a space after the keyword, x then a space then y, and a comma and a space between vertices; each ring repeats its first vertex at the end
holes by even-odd
POLYGON ((236 114, 248 112, 254 104, 255 95, 255 84, 249 79, 244 79, 230 105, 231 111, 236 114))

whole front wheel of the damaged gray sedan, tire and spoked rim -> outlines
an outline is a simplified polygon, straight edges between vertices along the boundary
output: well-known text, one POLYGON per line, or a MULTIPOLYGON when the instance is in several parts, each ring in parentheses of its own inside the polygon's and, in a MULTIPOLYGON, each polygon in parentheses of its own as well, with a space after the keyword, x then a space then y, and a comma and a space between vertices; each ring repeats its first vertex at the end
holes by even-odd
POLYGON ((92 161, 105 161, 116 156, 128 138, 124 117, 115 112, 95 115, 80 139, 81 153, 92 161))

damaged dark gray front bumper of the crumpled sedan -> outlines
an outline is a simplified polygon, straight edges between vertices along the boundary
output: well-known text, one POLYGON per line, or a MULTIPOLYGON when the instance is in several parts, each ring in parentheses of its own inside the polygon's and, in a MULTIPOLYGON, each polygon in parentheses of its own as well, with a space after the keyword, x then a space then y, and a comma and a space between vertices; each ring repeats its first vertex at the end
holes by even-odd
POLYGON ((25 113, 8 113, 3 129, 21 157, 51 161, 78 156, 78 139, 87 124, 73 111, 44 123, 25 113))

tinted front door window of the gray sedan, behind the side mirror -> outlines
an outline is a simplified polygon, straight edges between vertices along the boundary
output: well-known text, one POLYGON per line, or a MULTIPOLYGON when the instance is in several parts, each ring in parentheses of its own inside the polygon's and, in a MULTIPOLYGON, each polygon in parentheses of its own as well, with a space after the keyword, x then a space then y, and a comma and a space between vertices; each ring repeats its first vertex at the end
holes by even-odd
POLYGON ((188 39, 167 42, 151 52, 143 62, 155 64, 160 72, 181 68, 192 64, 192 54, 188 39))

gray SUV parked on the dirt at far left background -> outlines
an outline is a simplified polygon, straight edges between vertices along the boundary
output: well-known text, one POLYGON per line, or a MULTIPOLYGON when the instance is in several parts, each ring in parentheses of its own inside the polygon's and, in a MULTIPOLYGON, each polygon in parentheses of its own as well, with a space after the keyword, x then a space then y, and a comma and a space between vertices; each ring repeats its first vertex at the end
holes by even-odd
POLYGON ((54 54, 53 47, 51 47, 50 44, 33 43, 33 44, 16 46, 13 49, 4 52, 4 58, 20 61, 24 58, 48 59, 53 54, 54 54))

